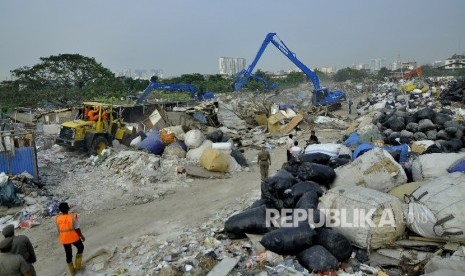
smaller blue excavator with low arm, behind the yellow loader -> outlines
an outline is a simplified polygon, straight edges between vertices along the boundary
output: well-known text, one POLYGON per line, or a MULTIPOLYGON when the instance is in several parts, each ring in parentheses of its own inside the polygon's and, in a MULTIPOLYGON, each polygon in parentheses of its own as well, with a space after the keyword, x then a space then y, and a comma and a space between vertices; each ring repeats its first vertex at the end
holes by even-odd
POLYGON ((153 90, 167 90, 167 91, 187 91, 191 97, 196 100, 211 99, 214 97, 212 92, 204 92, 202 89, 199 91, 191 84, 164 84, 157 82, 157 77, 152 77, 150 83, 142 92, 141 96, 137 99, 135 105, 142 104, 153 90))

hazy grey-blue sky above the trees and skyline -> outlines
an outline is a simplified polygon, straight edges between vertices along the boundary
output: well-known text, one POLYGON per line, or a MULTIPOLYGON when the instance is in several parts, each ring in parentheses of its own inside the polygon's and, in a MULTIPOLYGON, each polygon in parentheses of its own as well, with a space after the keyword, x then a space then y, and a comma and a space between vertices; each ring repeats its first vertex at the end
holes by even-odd
MULTIPOLYGON (((115 74, 217 74, 220 57, 247 65, 267 33, 310 68, 465 53, 463 0, 1 0, 0 81, 40 57, 81 54, 115 74)), ((295 65, 269 44, 256 69, 295 65)))

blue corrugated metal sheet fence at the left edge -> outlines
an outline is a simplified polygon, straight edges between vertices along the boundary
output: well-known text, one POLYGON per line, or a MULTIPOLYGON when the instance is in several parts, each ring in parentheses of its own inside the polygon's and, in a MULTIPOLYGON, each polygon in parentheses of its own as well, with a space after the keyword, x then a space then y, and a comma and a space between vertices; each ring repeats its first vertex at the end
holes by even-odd
POLYGON ((0 153, 0 172, 4 171, 12 175, 27 171, 34 178, 38 178, 36 157, 32 147, 16 148, 15 154, 9 152, 0 153))

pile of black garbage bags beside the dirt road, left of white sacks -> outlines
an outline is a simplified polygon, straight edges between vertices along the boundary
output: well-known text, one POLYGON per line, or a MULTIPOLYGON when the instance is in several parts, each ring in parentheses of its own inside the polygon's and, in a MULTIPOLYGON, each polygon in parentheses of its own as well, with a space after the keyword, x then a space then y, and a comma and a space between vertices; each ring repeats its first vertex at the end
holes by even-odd
POLYGON ((225 231, 232 239, 244 238, 245 233, 264 234, 260 243, 266 249, 296 256, 307 270, 337 271, 339 262, 350 258, 352 245, 343 235, 319 223, 324 215, 318 210, 319 197, 336 177, 334 164, 334 158, 323 153, 291 159, 274 176, 262 181, 261 199, 231 216, 225 222, 225 231), (301 221, 293 217, 296 212, 290 212, 285 225, 267 224, 267 210, 290 209, 305 210, 308 219, 301 221))

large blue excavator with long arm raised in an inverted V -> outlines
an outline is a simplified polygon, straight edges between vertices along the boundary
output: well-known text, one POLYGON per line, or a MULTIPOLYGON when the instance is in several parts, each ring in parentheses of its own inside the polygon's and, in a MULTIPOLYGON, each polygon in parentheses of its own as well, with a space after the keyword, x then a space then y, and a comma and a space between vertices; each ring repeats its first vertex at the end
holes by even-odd
POLYGON ((302 72, 312 81, 315 91, 313 93, 312 102, 314 106, 333 106, 340 105, 341 101, 345 99, 345 93, 342 90, 330 90, 326 87, 320 86, 320 79, 318 76, 310 70, 305 64, 303 64, 299 59, 297 59, 295 53, 293 53, 286 44, 277 37, 276 33, 269 33, 266 35, 265 40, 262 43, 262 46, 258 50, 257 55, 255 56, 252 63, 249 65, 247 70, 243 73, 242 78, 240 78, 235 83, 235 90, 239 91, 241 87, 247 82, 248 78, 251 77, 252 72, 257 65, 257 62, 260 60, 263 52, 265 51, 268 44, 273 44, 278 50, 283 53, 292 63, 294 63, 302 72))

